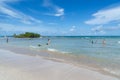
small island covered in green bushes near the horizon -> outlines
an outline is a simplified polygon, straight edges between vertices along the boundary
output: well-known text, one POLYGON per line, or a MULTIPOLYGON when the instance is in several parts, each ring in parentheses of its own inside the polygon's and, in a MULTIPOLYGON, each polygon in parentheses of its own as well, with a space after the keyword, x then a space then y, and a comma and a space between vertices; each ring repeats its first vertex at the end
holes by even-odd
POLYGON ((33 32, 25 32, 24 34, 16 35, 14 34, 13 37, 15 38, 39 38, 41 35, 33 32))

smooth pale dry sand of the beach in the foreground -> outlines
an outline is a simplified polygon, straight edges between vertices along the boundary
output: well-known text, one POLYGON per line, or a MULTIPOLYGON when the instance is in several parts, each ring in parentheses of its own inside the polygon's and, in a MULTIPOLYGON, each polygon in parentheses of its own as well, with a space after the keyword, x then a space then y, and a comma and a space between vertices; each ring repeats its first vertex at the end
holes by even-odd
POLYGON ((42 57, 0 49, 0 80, 120 80, 42 57))

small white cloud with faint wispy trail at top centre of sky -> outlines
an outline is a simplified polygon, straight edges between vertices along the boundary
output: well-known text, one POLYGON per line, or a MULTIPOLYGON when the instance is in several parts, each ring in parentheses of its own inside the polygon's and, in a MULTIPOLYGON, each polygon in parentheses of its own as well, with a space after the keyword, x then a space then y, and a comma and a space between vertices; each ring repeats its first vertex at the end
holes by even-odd
POLYGON ((52 13, 47 13, 46 15, 50 15, 50 16, 56 16, 56 17, 60 17, 64 15, 64 9, 53 4, 51 0, 44 0, 43 2, 43 6, 47 7, 48 9, 52 9, 52 13))

